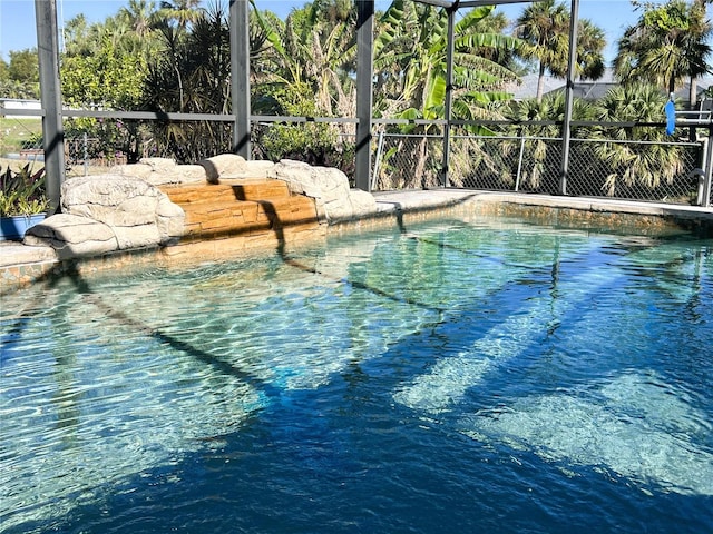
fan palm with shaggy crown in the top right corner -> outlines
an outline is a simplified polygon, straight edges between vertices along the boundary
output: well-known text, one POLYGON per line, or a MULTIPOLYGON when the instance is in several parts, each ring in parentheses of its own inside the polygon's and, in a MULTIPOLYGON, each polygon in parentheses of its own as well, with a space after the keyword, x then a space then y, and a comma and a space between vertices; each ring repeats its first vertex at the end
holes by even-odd
POLYGON ((643 10, 637 23, 618 42, 614 60, 619 80, 643 80, 670 93, 684 80, 691 83, 688 103, 695 106, 696 79, 713 72, 709 44, 713 28, 705 19, 710 0, 687 4, 670 0, 663 6, 635 3, 643 10))

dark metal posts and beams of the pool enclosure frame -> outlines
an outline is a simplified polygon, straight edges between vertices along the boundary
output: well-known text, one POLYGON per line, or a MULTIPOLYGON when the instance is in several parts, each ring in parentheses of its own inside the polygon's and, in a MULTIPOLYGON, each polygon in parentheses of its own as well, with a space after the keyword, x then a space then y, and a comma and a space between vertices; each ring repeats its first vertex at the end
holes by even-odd
MULTIPOLYGON (((358 11, 356 23, 356 155, 355 185, 363 190, 371 190, 371 141, 372 141, 372 101, 373 101, 373 28, 374 0, 354 0, 358 11)), ((451 101, 452 101, 452 62, 453 62, 453 27, 455 16, 459 9, 480 6, 498 6, 507 3, 533 3, 541 0, 414 0, 421 3, 445 8, 448 13, 448 55, 447 55, 447 92, 446 120, 443 135, 442 185, 448 185, 448 165, 450 157, 451 101)), ((563 127, 563 157, 560 192, 566 194, 568 174, 568 132, 572 118, 573 73, 576 50, 576 27, 579 0, 572 1, 570 55, 567 76, 567 97, 565 123, 563 127)), ((61 109, 61 86, 59 81, 59 47, 57 31, 56 0, 35 0, 37 18, 37 41, 40 53, 40 90, 42 102, 42 132, 45 139, 47 187, 52 210, 59 207, 61 182, 65 177, 62 117, 75 116, 61 109)), ((229 36, 231 36, 231 97, 233 115, 215 116, 218 120, 234 122, 233 150, 245 159, 250 158, 250 44, 246 31, 248 23, 248 0, 229 0, 229 36)), ((81 113, 85 115, 85 113, 81 113)), ((92 113, 86 113, 91 116, 92 113)), ((163 119, 174 113, 137 112, 128 116, 148 116, 163 119)), ((176 116, 179 113, 176 113, 176 116)), ((349 119, 346 119, 349 120, 349 119)))

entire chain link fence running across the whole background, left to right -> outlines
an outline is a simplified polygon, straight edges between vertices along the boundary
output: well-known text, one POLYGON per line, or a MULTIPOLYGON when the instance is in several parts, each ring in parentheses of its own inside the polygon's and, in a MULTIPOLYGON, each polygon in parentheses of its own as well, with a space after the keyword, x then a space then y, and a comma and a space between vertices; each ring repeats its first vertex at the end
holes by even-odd
MULTIPOLYGON (((97 120, 95 131, 72 136, 66 123, 67 176, 105 172, 146 157, 197 162, 232 150, 232 125, 221 121, 97 120), (158 140, 160 139, 160 141, 158 140)), ((431 131, 437 130, 432 128, 431 131)), ((40 118, 2 117, 3 166, 42 161, 40 118)), ((614 137, 614 136, 612 136, 614 137)), ((254 122, 254 159, 299 159, 336 167, 354 184, 354 123, 254 122), (306 147, 306 148, 305 148, 306 147)), ((452 136, 448 185, 496 191, 557 195, 561 146, 556 137, 452 136)), ((372 190, 441 187, 443 137, 380 134, 374 140, 372 190)), ((575 138, 570 142, 566 194, 677 205, 703 204, 702 142, 575 138)), ((713 201, 713 198, 711 199, 713 201)))

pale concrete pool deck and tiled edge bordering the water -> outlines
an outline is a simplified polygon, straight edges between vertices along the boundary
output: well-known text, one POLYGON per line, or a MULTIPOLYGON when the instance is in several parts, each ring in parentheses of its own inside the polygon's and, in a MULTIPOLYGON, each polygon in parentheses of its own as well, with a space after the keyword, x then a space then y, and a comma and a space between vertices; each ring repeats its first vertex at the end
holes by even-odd
MULTIPOLYGON (((694 231, 713 236, 713 208, 635 202, 603 198, 492 192, 465 189, 429 189, 375 192, 377 209, 360 220, 335 225, 340 230, 370 224, 403 225, 431 216, 466 212, 473 215, 524 216, 543 224, 566 227, 606 227, 661 234, 694 231)), ((172 249, 173 247, 168 247, 172 249)), ((125 250, 113 255, 113 264, 155 256, 156 250, 125 250), (120 257, 120 259, 118 258, 120 257)), ((168 254, 170 256, 170 254, 168 254)), ((75 261, 96 261, 78 258, 75 261)), ((65 260, 66 263, 66 260, 65 260)), ((106 263, 106 261, 104 261, 106 263)), ((31 247, 18 241, 0 241, 0 286, 22 286, 62 264, 51 247, 31 247)), ((94 267, 96 268, 96 267, 94 267)))

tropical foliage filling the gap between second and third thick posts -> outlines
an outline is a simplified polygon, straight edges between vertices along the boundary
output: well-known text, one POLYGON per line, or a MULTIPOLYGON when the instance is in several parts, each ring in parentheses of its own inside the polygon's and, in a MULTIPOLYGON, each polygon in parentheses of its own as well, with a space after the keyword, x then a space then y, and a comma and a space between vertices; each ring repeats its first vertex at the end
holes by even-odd
MULTIPOLYGON (((356 60, 355 11, 348 0, 315 1, 285 21, 254 9, 251 49, 261 50, 253 69, 253 108, 262 115, 353 117, 356 60)), ((350 125, 258 127, 261 156, 331 165, 351 174, 350 125)))

